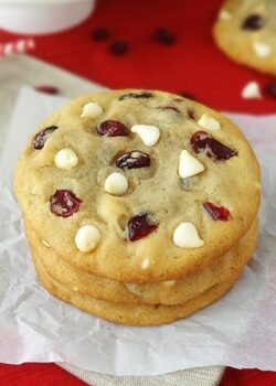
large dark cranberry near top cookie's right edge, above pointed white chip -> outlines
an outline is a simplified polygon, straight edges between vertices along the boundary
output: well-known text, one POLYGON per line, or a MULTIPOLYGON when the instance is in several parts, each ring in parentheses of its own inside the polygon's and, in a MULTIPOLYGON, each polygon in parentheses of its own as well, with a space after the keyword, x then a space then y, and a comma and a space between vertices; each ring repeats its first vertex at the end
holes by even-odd
POLYGON ((205 131, 194 132, 190 142, 195 153, 205 151, 206 156, 213 160, 227 160, 231 157, 237 156, 237 151, 217 141, 205 131))

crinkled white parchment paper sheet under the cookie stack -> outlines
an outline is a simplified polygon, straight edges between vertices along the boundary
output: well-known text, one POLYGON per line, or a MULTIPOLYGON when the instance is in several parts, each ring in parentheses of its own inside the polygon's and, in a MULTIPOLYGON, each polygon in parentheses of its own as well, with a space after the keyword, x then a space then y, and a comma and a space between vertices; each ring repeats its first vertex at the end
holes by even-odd
POLYGON ((254 144, 263 173, 258 247, 241 280, 185 320, 127 328, 49 296, 31 262, 12 173, 26 138, 64 101, 21 89, 0 162, 0 362, 66 361, 113 375, 208 365, 276 371, 276 116, 231 115, 254 144))

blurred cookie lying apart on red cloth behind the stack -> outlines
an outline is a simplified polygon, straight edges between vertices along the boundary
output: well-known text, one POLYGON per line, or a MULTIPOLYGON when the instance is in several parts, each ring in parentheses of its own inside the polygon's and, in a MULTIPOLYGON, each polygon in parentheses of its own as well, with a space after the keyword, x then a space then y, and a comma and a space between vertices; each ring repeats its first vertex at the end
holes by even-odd
POLYGON ((227 0, 214 23, 217 46, 232 60, 276 75, 276 3, 227 0))

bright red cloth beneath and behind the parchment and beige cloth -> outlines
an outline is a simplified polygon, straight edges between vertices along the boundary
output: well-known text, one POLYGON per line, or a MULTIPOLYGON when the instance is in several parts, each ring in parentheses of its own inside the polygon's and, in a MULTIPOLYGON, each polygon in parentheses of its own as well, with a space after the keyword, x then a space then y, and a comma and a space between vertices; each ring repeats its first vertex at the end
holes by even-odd
MULTIPOLYGON (((221 3, 222 0, 98 0, 94 14, 78 28, 35 37, 32 54, 113 88, 185 90, 217 109, 275 112, 276 99, 241 97, 247 82, 254 79, 264 87, 270 77, 229 61, 212 41, 211 25, 221 3), (92 39, 97 26, 110 30, 108 41, 92 39), (152 31, 159 26, 176 34, 176 44, 166 46, 152 39, 152 31), (115 40, 127 41, 128 53, 114 56, 108 45, 115 40)), ((0 31, 0 42, 17 37, 0 31)), ((54 364, 0 365, 1 386, 82 384, 54 364)), ((221 386, 235 385, 276 385, 276 374, 227 368, 221 386)))

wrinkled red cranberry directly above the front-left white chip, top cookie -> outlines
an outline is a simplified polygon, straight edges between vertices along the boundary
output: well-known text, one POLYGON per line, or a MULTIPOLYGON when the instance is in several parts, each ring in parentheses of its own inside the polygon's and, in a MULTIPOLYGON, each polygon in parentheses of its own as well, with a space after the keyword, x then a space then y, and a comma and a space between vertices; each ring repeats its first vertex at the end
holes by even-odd
POLYGON ((66 190, 57 190, 50 199, 50 210, 59 217, 70 217, 78 211, 82 203, 74 193, 66 190))

